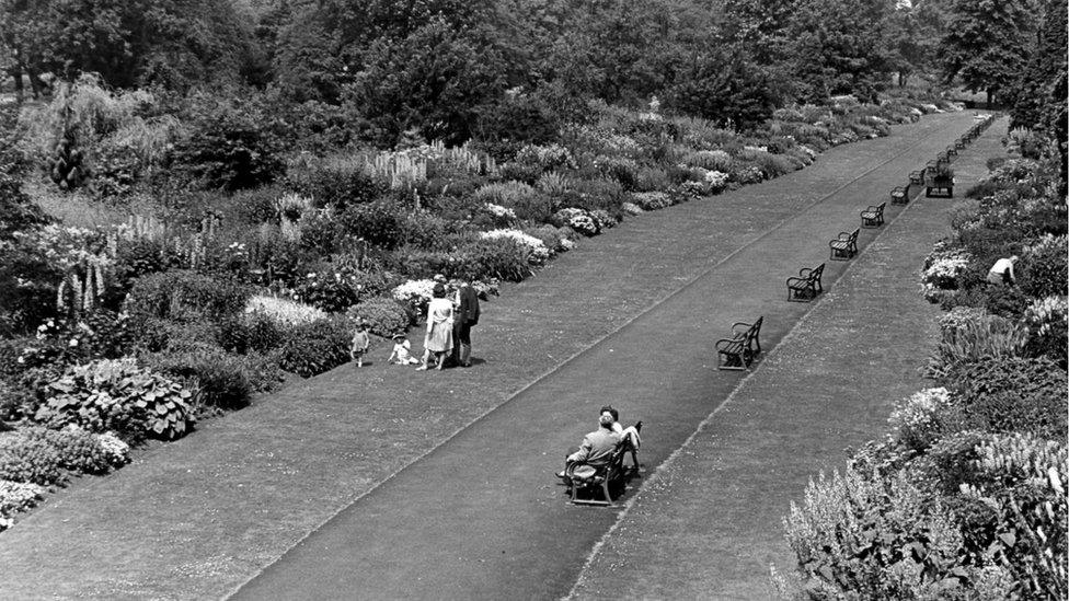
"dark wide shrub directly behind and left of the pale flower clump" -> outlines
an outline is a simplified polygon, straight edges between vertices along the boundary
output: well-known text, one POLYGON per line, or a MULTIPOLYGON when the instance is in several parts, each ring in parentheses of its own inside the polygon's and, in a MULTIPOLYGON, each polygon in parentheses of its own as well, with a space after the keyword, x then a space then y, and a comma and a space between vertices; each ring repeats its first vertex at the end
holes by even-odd
POLYGON ((180 269, 138 278, 126 308, 147 317, 218 319, 241 311, 249 293, 239 282, 180 269))

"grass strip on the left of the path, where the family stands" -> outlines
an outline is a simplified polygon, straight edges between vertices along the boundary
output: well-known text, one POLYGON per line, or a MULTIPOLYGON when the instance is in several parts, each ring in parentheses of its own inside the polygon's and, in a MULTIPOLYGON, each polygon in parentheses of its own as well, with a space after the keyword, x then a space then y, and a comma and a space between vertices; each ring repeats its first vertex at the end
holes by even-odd
MULTIPOLYGON (((440 374, 346 367, 209 424, 4 533, 0 590, 225 594, 340 508, 837 181, 926 136, 965 127, 967 115, 928 117, 892 138, 834 149, 791 176, 631 220, 487 305, 474 336, 475 357, 490 362, 440 374)), ((930 146, 938 142, 945 140, 930 146)))

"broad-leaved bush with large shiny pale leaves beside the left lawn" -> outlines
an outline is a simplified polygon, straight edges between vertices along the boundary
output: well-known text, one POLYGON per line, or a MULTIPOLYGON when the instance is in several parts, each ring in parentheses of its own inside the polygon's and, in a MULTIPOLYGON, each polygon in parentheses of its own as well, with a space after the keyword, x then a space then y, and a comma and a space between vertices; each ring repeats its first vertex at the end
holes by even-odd
POLYGON ((171 440, 193 426, 189 391, 134 359, 74 366, 48 384, 53 394, 34 416, 53 428, 74 424, 90 431, 113 430, 126 440, 145 436, 171 440))

